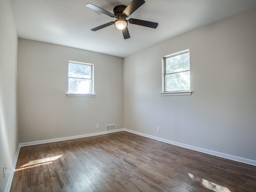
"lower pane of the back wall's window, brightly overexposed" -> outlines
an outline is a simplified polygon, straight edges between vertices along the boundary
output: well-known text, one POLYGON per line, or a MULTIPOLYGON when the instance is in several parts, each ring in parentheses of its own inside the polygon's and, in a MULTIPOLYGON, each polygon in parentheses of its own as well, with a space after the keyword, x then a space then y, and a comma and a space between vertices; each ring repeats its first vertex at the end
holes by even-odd
POLYGON ((68 78, 69 93, 92 93, 92 80, 68 78))

